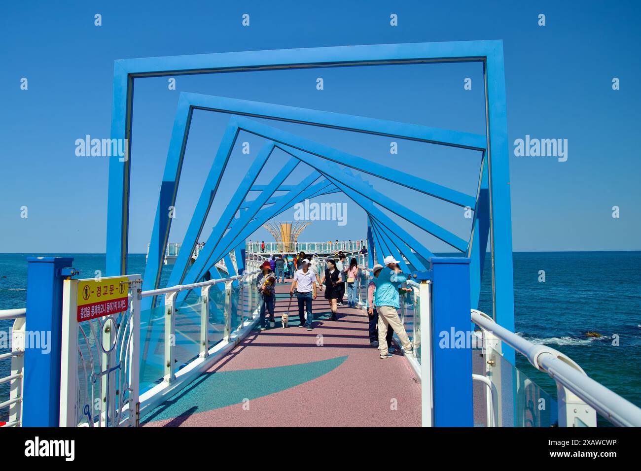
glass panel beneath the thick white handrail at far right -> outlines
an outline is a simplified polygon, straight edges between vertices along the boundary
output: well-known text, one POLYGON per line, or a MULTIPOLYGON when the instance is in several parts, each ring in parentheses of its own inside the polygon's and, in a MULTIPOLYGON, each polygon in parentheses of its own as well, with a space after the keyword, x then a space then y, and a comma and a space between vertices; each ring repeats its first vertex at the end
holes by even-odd
MULTIPOLYGON (((474 345, 473 345, 474 346, 474 345)), ((481 347, 480 342, 476 345, 481 347)), ((490 349, 472 349, 472 371, 492 381, 492 408, 499 427, 558 426, 556 399, 501 354, 490 349), (490 363, 488 363, 488 361, 490 363)), ((487 386, 474 381, 474 426, 487 425, 487 386)))

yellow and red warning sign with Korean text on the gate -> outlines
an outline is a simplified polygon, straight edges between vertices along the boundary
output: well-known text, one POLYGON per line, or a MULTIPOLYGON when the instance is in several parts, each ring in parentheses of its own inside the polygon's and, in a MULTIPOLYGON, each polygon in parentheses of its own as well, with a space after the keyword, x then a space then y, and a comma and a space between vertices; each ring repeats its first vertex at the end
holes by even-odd
POLYGON ((129 285, 126 276, 78 281, 78 322, 126 311, 129 285))

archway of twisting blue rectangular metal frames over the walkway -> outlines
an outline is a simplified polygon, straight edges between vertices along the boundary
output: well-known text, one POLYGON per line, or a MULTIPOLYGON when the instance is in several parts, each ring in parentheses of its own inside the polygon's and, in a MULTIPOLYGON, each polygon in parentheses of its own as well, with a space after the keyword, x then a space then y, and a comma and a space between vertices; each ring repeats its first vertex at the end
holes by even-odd
MULTIPOLYGON (((240 115, 232 117, 221 145, 212 163, 212 169, 197 202, 192 221, 187 230, 183 251, 171 274, 170 285, 188 283, 197 279, 208 263, 220 260, 235 250, 264 220, 287 209, 298 201, 324 192, 341 191, 359 204, 369 216, 370 244, 388 252, 397 251, 420 269, 421 258, 431 255, 426 247, 413 240, 401 227, 394 224, 385 208, 437 236, 447 244, 470 257, 470 287, 472 306, 478 304, 483 261, 488 236, 492 252, 492 293, 494 318, 512 330, 513 280, 512 280, 512 228, 508 168, 508 142, 506 129, 506 103, 504 90, 503 44, 501 41, 445 42, 421 44, 367 45, 351 47, 324 47, 315 49, 287 49, 278 51, 253 51, 242 53, 199 54, 119 60, 115 62, 112 113, 112 138, 128 139, 128 158, 112 158, 109 169, 109 202, 107 224, 108 275, 126 273, 129 219, 129 173, 131 169, 131 113, 133 112, 133 83, 135 79, 178 74, 205 74, 239 70, 278 69, 292 67, 318 67, 320 65, 372 65, 429 62, 481 62, 485 73, 485 98, 487 110, 487 136, 459 131, 427 128, 413 124, 377 120, 339 113, 292 108, 276 104, 183 93, 172 129, 169 153, 154 220, 149 259, 145 273, 145 287, 155 288, 160 283, 162 254, 165 252, 171 218, 167 208, 176 201, 178 182, 187 144, 188 131, 194 109, 240 115), (271 126, 260 124, 247 117, 264 117, 314 126, 344 129, 374 135, 394 136, 433 144, 449 145, 478 151, 479 183, 476 195, 466 195, 451 188, 417 178, 399 170, 373 163, 358 156, 342 153, 337 149, 311 142, 271 126), (233 195, 232 201, 212 235, 205 244, 197 263, 188 269, 189 247, 194 247, 204 226, 229 154, 240 129, 263 136, 269 142, 254 160, 251 170, 233 195), (253 201, 246 201, 256 177, 278 147, 292 155, 268 188, 253 201), (274 197, 287 175, 304 160, 315 170, 287 194, 274 197), (427 195, 452 204, 469 207, 474 211, 469 240, 462 240, 446 229, 437 226, 422 215, 404 208, 393 199, 376 192, 356 176, 346 176, 340 181, 332 178, 340 167, 337 163, 358 172, 395 181, 427 195), (313 183, 322 178, 319 183, 313 183), (311 186, 310 186, 311 185, 311 186), (235 218, 239 213, 240 216, 235 218), (414 253, 415 252, 415 253, 414 253), (418 256, 420 256, 420 258, 418 256)), ((506 357, 513 361, 512 354, 506 357)))

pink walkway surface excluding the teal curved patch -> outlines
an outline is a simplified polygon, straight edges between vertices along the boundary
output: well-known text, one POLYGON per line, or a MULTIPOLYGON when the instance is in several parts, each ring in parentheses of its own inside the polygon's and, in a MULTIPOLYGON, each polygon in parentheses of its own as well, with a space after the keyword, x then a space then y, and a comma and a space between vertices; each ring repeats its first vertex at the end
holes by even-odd
MULTIPOLYGON (((288 284, 277 287, 281 293, 288 290, 288 284)), ((338 308, 338 320, 331 321, 323 295, 319 291, 313 302, 313 331, 297 327, 294 298, 290 327, 283 329, 277 322, 276 328, 253 331, 206 374, 347 356, 337 368, 306 383, 251 399, 249 408, 238 403, 146 426, 420 426, 420 382, 406 359, 402 354, 379 359, 378 349, 369 345, 367 314, 338 308)), ((288 299, 276 301, 277 318, 287 311, 287 304, 288 299)))

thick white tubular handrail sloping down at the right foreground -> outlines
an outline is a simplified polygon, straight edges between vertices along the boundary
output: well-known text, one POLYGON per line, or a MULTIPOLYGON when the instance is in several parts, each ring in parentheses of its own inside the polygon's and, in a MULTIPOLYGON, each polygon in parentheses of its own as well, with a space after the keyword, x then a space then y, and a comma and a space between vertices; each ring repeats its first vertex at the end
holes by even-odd
POLYGON ((577 395, 613 424, 622 427, 641 427, 640 408, 587 376, 572 359, 544 345, 529 342, 499 326, 481 311, 472 309, 471 317, 474 324, 511 345, 528 358, 533 367, 549 374, 557 384, 561 384, 577 395))

